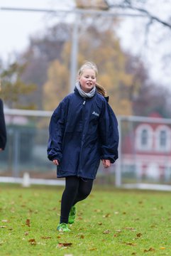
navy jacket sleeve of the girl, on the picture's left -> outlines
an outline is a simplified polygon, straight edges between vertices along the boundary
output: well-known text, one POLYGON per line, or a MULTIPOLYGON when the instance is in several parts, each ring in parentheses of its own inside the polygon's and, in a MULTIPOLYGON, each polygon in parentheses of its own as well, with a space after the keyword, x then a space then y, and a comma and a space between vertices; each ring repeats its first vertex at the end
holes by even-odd
POLYGON ((62 139, 65 131, 65 103, 62 101, 53 112, 49 124, 48 159, 62 159, 62 139))

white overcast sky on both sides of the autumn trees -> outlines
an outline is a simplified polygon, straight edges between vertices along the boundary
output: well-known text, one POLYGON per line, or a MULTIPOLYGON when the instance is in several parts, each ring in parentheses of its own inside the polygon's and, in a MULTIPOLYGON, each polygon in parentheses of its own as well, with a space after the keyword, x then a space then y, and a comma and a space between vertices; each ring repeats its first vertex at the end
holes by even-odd
MULTIPOLYGON (((149 11, 153 14, 160 14, 160 18, 170 15, 170 4, 160 4, 163 0, 149 0, 149 11)), ((69 9, 73 6, 72 0, 0 0, 0 7, 31 8, 31 9, 69 9)), ((56 17, 57 18, 57 17, 56 17)), ((29 43, 29 37, 35 33, 41 33, 45 27, 50 26, 50 22, 55 21, 54 16, 38 12, 22 11, 0 11, 0 58, 8 60, 9 55, 13 52, 21 53, 26 49, 29 43)), ((171 43, 160 42, 159 31, 161 26, 155 26, 153 37, 148 38, 148 47, 145 46, 145 19, 138 21, 138 18, 125 18, 122 26, 119 27, 119 36, 121 44, 126 50, 136 53, 144 58, 152 78, 156 81, 162 81, 165 85, 170 86, 170 59, 162 59, 165 52, 171 53, 171 43), (140 26, 142 29, 140 30, 140 26), (138 33, 138 30, 141 31, 138 33), (158 43, 159 42, 159 43, 158 43), (169 60, 169 63, 166 62, 169 60)), ((167 31, 166 31, 167 33, 167 31)))

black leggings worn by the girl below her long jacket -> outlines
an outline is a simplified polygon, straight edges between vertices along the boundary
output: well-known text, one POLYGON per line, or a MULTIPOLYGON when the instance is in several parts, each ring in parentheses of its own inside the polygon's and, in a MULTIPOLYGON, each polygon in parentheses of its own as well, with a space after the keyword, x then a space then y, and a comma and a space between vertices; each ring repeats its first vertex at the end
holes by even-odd
POLYGON ((68 176, 65 178, 65 190, 62 193, 60 223, 68 223, 68 216, 72 206, 84 200, 92 191, 93 179, 68 176))

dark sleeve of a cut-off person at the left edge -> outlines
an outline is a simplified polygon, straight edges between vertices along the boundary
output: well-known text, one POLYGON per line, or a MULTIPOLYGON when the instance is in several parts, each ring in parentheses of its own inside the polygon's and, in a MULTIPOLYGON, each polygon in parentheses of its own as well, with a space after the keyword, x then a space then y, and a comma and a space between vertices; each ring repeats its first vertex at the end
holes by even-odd
POLYGON ((3 102, 0 99, 0 149, 5 149, 6 146, 6 124, 4 119, 3 102))

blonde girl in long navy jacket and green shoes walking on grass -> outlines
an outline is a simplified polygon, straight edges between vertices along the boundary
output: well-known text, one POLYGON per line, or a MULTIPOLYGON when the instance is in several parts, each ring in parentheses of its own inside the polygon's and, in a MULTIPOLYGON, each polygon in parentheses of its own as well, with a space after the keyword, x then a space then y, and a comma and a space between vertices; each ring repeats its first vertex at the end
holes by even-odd
POLYGON ((58 231, 70 231, 75 205, 92 191, 100 160, 108 168, 118 158, 118 124, 104 88, 96 84, 97 73, 94 63, 84 63, 74 93, 50 119, 48 159, 57 166, 57 178, 65 177, 58 231))

